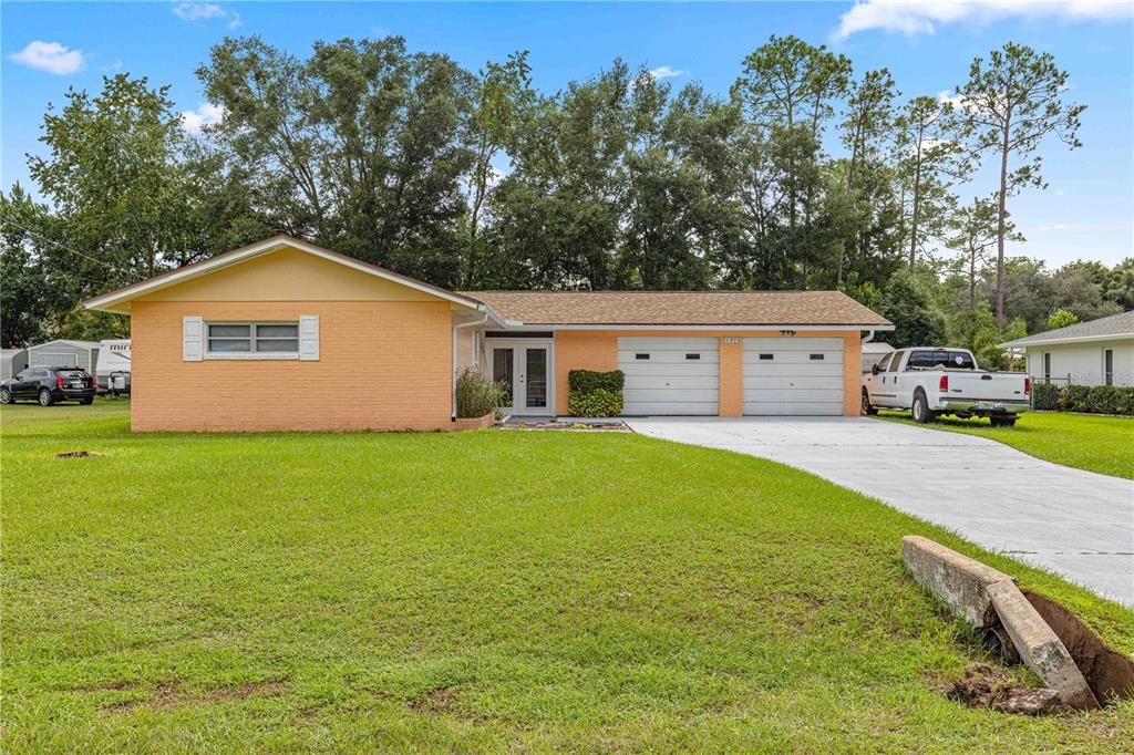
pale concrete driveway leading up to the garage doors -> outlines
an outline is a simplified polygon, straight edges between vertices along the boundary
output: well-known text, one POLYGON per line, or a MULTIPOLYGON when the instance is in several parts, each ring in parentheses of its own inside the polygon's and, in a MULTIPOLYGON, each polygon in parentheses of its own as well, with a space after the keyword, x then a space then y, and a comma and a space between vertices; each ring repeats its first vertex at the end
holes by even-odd
MULTIPOLYGON (((849 417, 649 417, 653 438, 759 456, 1134 605, 1134 481, 984 438, 849 417)), ((895 543, 897 548, 897 543, 895 543)))

